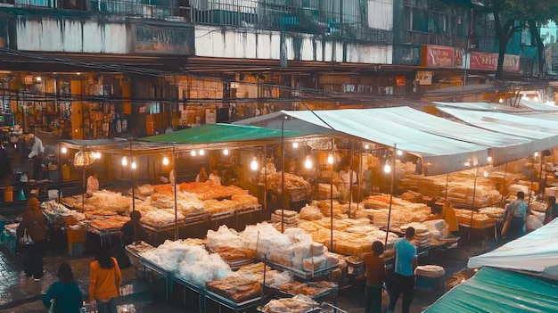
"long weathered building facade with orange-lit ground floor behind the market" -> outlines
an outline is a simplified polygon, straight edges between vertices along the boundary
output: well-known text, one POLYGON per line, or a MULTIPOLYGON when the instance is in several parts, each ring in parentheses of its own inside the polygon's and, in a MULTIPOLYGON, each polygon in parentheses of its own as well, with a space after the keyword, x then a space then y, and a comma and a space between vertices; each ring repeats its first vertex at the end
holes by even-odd
MULTIPOLYGON (((493 19, 436 0, 0 3, 4 125, 75 139, 395 105, 496 70, 493 19)), ((529 40, 513 37, 508 77, 536 70, 529 40)))

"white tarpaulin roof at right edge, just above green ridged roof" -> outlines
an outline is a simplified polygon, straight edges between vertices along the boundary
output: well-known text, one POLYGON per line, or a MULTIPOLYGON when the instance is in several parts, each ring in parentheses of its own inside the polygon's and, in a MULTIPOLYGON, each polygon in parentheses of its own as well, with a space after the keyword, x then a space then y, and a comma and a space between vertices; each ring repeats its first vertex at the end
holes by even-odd
POLYGON ((558 218, 513 242, 469 259, 468 268, 492 267, 558 279, 558 218))

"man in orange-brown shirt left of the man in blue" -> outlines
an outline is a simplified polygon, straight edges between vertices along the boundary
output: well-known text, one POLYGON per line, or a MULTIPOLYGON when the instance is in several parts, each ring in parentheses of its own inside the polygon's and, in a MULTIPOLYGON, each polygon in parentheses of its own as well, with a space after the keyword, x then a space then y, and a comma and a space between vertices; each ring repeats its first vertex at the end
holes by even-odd
POLYGON ((366 265, 366 313, 382 313, 382 284, 386 281, 386 263, 380 258, 383 243, 372 243, 372 253, 365 253, 366 265))

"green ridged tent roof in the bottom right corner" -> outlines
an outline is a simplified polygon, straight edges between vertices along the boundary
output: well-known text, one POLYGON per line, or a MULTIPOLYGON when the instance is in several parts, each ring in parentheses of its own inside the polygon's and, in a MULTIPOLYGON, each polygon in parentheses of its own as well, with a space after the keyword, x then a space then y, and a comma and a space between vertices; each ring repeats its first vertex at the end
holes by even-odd
POLYGON ((558 282, 496 268, 444 294, 425 313, 558 312, 558 282))

